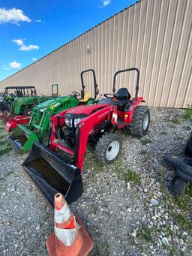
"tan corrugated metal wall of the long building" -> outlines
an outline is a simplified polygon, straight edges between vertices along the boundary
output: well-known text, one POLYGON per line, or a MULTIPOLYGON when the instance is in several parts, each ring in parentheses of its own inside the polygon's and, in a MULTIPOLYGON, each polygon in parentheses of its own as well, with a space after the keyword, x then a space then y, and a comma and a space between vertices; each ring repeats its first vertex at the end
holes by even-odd
MULTIPOLYGON (((191 15, 191 0, 142 0, 0 86, 32 84, 37 92, 47 93, 58 83, 65 95, 80 89, 80 71, 94 68, 104 93, 112 91, 115 71, 136 67, 141 72, 139 95, 149 105, 186 107, 192 103, 191 15)), ((134 74, 121 74, 118 86, 129 86, 133 94, 135 79, 134 74)))

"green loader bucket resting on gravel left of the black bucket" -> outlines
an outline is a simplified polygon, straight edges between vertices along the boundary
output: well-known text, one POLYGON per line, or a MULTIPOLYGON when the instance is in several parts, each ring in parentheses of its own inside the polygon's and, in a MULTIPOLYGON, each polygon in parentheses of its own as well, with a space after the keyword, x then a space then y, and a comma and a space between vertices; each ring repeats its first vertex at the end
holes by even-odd
POLYGON ((10 144, 19 153, 28 152, 34 141, 38 142, 37 135, 23 125, 17 125, 17 130, 8 137, 10 144))

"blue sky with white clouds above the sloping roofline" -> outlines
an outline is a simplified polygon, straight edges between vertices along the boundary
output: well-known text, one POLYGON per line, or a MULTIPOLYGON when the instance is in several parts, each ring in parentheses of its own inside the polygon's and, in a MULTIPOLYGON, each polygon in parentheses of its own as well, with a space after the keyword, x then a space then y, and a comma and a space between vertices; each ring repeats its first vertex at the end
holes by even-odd
POLYGON ((0 80, 136 0, 0 0, 0 80))

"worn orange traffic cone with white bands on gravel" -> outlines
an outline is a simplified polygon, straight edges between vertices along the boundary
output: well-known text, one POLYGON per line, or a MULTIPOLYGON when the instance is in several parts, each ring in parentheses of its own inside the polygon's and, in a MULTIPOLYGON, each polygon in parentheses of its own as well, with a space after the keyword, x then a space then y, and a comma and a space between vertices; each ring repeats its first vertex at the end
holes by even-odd
POLYGON ((46 240, 49 256, 86 256, 92 251, 93 240, 80 217, 73 215, 62 194, 54 198, 54 231, 46 240))

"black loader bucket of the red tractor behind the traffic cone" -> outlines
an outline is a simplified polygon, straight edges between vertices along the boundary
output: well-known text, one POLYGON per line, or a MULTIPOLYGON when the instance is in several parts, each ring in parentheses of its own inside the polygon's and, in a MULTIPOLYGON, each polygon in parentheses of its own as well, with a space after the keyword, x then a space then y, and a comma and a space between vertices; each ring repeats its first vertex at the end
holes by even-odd
POLYGON ((58 192, 64 195, 68 203, 76 201, 83 194, 79 168, 40 143, 33 143, 22 167, 52 206, 58 192))

